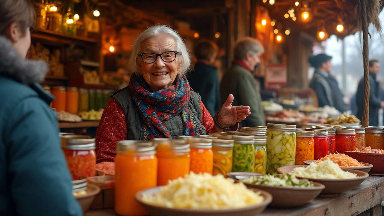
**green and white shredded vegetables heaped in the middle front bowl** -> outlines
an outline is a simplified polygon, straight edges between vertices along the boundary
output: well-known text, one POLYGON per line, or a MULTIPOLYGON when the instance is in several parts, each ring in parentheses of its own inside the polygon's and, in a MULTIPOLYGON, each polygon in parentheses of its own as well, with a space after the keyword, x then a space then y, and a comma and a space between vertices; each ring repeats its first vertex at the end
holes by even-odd
POLYGON ((308 179, 298 179, 295 175, 282 174, 266 174, 263 176, 252 176, 244 179, 242 182, 249 184, 260 184, 267 186, 282 186, 294 188, 313 188, 313 183, 308 179))

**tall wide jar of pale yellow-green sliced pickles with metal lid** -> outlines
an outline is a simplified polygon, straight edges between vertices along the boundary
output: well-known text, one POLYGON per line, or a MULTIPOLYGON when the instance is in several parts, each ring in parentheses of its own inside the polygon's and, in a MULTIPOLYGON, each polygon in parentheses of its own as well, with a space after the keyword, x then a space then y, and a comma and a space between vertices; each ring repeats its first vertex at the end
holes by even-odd
POLYGON ((296 125, 267 124, 266 173, 276 173, 282 166, 295 165, 296 125))

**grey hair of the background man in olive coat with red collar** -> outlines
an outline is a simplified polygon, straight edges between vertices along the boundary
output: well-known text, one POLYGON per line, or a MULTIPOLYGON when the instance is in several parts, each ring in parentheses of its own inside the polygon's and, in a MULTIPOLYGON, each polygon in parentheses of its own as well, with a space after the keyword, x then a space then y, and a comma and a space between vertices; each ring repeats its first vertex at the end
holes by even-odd
POLYGON ((245 37, 238 40, 233 49, 235 59, 244 59, 247 53, 255 55, 256 53, 264 53, 264 47, 259 40, 252 37, 245 37))

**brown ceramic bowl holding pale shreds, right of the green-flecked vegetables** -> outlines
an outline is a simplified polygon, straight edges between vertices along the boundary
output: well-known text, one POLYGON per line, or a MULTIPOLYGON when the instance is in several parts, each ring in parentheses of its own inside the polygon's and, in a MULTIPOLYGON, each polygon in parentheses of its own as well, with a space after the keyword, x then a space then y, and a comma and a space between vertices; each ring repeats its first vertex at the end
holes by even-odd
MULTIPOLYGON (((296 165, 296 166, 283 166, 277 169, 278 173, 291 173, 293 169, 300 166, 307 166, 307 165, 296 165)), ((357 178, 351 178, 351 179, 314 179, 314 178, 306 178, 310 181, 317 182, 320 184, 324 184, 325 188, 323 191, 321 191, 321 194, 336 194, 336 193, 343 193, 345 191, 349 191, 353 188, 356 188, 359 186, 366 178, 368 178, 369 174, 354 170, 354 169, 347 169, 347 168, 341 168, 344 171, 348 171, 350 173, 356 173, 357 178)), ((300 176, 296 176, 297 178, 301 178, 300 176)))

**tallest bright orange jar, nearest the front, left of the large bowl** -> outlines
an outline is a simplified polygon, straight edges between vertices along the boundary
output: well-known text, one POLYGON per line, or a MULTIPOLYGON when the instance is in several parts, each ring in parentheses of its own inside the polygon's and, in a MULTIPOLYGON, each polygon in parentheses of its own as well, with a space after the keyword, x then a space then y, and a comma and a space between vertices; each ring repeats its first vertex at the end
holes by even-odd
POLYGON ((135 200, 143 189, 156 187, 157 157, 151 141, 117 143, 115 158, 115 211, 122 216, 148 215, 135 200))

